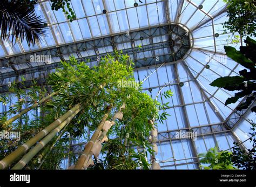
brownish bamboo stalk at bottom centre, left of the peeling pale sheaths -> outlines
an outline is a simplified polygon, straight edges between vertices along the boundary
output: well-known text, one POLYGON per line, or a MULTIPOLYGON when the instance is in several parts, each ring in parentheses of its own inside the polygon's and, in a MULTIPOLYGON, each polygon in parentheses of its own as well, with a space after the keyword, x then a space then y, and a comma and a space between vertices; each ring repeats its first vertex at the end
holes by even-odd
POLYGON ((112 109, 112 105, 107 108, 106 114, 104 114, 103 119, 99 123, 98 128, 95 130, 95 132, 93 133, 90 141, 85 146, 83 154, 79 157, 79 159, 77 161, 77 164, 75 165, 74 169, 82 169, 83 168, 83 165, 86 161, 86 158, 89 156, 91 148, 92 148, 93 144, 95 143, 95 141, 97 140, 97 137, 99 136, 99 132, 102 130, 102 127, 103 127, 107 117, 109 116, 109 114, 111 112, 111 109, 112 109))

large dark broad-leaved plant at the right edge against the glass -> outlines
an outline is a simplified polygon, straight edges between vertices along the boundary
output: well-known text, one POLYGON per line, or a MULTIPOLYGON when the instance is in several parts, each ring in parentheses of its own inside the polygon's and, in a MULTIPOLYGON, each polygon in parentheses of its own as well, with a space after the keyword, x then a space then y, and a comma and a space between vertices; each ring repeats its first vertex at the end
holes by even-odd
MULTIPOLYGON (((246 101, 241 103, 237 110, 248 108, 255 100, 256 90, 256 69, 255 69, 255 40, 247 37, 245 40, 246 46, 241 46, 240 51, 235 50, 234 47, 225 46, 225 52, 228 57, 244 66, 247 69, 239 71, 240 76, 234 77, 221 77, 214 80, 210 85, 217 86, 228 91, 239 91, 231 98, 228 98, 225 102, 225 106, 230 103, 237 102, 240 98, 247 96, 246 101), (247 72, 250 70, 250 72, 247 72)), ((256 107, 252 108, 252 112, 256 112, 256 107)))

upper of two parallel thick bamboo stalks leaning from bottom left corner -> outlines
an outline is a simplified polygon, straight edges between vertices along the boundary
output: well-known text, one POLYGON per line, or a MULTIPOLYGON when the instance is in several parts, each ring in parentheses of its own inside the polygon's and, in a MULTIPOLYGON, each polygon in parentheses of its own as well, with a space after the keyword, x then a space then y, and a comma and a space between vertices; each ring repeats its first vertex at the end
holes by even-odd
POLYGON ((76 112, 77 109, 81 107, 80 104, 76 105, 75 107, 71 108, 68 112, 66 112, 64 115, 60 116, 59 119, 51 123, 48 127, 37 133, 34 137, 30 138, 26 143, 24 143, 22 146, 20 146, 18 149, 13 151, 10 155, 3 158, 2 161, 0 161, 0 169, 5 169, 8 167, 9 164, 17 160, 17 158, 21 157, 23 154, 26 153, 26 151, 31 148, 34 144, 36 144, 39 140, 41 140, 44 136, 50 133, 52 129, 55 129, 59 126, 60 123, 62 123, 64 120, 66 120, 70 115, 76 112))

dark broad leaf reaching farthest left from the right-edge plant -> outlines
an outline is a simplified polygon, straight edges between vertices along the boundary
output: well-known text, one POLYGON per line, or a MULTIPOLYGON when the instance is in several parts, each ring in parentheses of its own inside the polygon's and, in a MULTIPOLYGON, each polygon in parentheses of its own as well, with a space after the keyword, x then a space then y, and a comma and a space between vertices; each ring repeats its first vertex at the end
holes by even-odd
POLYGON ((244 81, 245 81, 245 79, 240 76, 221 77, 221 78, 214 80, 210 85, 223 88, 225 86, 233 85, 233 84, 239 85, 241 82, 244 82, 244 81))

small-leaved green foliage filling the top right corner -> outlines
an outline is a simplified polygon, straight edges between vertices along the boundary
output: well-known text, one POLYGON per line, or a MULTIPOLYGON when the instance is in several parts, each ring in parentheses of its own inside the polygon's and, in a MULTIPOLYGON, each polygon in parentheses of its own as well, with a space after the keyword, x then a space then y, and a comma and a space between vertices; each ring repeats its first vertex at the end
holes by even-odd
POLYGON ((223 0, 227 3, 228 20, 223 24, 225 32, 238 32, 241 36, 256 36, 254 0, 223 0))

